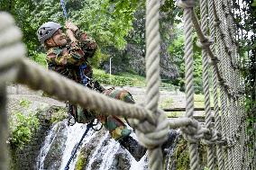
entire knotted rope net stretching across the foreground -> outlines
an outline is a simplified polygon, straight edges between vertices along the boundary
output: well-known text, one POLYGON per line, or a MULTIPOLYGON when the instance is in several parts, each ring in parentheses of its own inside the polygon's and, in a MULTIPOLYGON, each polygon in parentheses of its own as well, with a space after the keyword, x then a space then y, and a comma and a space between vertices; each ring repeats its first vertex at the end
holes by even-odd
POLYGON ((160 96, 160 2, 158 0, 148 0, 146 5, 147 89, 146 101, 142 104, 123 103, 108 98, 59 76, 55 72, 46 71, 23 58, 25 48, 21 43, 21 31, 14 25, 14 19, 9 14, 0 13, 0 148, 4 149, 0 154, 0 170, 7 169, 5 82, 28 85, 34 90, 41 89, 47 94, 58 97, 59 100, 78 103, 82 107, 97 112, 128 117, 140 143, 149 149, 150 169, 162 169, 163 157, 160 146, 166 141, 169 128, 180 128, 184 138, 187 139, 190 169, 199 168, 197 145, 200 141, 208 148, 207 166, 209 169, 217 167, 219 169, 224 167, 225 169, 241 167, 249 169, 251 161, 246 147, 248 137, 245 133, 244 99, 241 75, 237 69, 240 57, 234 40, 235 29, 229 3, 229 0, 201 0, 201 23, 199 24, 194 12, 195 0, 178 1, 178 6, 184 9, 187 105, 186 117, 171 121, 167 119, 163 111, 158 109, 160 96), (197 45, 202 48, 206 125, 200 124, 193 118, 193 26, 199 39, 197 45), (208 31, 209 36, 206 35, 208 31), (208 57, 211 58, 210 64, 213 68, 215 129, 211 125, 208 57), (242 156, 237 156, 237 154, 242 156))

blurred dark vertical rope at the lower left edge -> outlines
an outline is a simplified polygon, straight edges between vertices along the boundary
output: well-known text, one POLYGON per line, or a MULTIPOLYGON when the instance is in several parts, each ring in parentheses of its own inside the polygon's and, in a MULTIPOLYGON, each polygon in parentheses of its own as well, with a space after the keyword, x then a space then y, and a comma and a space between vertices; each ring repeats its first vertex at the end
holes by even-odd
POLYGON ((0 82, 0 169, 8 169, 7 166, 7 112, 6 112, 6 89, 5 83, 0 82))

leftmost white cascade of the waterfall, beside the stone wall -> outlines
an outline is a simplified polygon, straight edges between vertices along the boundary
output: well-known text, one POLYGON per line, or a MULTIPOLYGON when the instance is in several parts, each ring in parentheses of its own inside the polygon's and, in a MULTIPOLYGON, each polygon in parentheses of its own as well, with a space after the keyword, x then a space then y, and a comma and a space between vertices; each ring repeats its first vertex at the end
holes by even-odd
MULTIPOLYGON (((69 161, 69 157, 71 156, 73 149, 76 147, 76 145, 78 145, 78 141, 81 139, 86 128, 87 125, 81 123, 76 123, 73 126, 68 126, 67 121, 60 121, 56 123, 49 131, 49 134, 41 147, 41 152, 37 161, 39 163, 37 165, 39 170, 51 169, 56 167, 61 170, 64 169, 69 161), (59 133, 61 133, 62 135, 59 135, 59 133), (60 157, 58 157, 59 159, 55 160, 56 162, 50 161, 50 163, 52 164, 45 167, 46 158, 51 155, 51 152, 55 152, 54 150, 51 150, 50 152, 50 149, 55 148, 54 146, 52 146, 54 143, 57 143, 57 145, 59 146, 63 146, 62 149, 58 149, 58 151, 60 151, 60 157)), ((95 134, 96 132, 94 130, 89 130, 87 133, 87 137, 83 140, 82 146, 85 145, 90 139, 92 139, 95 134)), ((74 169, 75 164, 76 159, 73 159, 69 166, 69 169, 74 169)))

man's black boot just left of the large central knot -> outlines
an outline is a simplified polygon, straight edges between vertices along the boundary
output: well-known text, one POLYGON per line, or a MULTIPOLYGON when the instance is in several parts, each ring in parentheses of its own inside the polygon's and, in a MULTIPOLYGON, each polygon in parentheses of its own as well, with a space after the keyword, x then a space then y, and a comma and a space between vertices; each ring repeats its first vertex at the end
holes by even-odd
POLYGON ((118 141, 123 148, 126 148, 130 152, 136 161, 140 161, 147 151, 147 148, 142 147, 139 142, 131 136, 118 141))

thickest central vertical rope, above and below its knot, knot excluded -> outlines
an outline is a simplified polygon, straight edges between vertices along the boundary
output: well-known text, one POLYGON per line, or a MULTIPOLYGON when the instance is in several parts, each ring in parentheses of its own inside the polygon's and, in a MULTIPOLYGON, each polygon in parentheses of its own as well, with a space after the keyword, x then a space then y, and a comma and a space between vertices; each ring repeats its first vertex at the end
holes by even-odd
MULTIPOLYGON (((160 1, 147 0, 146 4, 146 104, 151 112, 157 112, 160 97, 160 1)), ((149 149, 151 169, 162 168, 162 152, 160 148, 149 149)))

